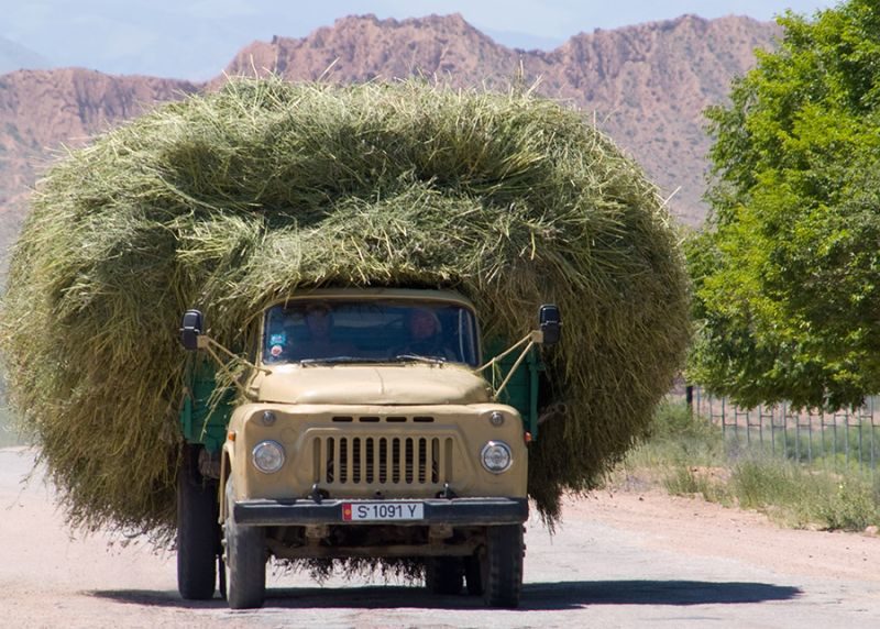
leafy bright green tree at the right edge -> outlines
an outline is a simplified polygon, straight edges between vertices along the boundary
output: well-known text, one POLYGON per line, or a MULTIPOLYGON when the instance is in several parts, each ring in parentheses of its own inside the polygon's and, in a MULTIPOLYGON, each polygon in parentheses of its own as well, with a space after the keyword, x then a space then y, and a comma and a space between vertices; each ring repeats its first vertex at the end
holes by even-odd
POLYGON ((747 406, 855 406, 880 391, 880 3, 779 23, 707 112, 690 375, 747 406))

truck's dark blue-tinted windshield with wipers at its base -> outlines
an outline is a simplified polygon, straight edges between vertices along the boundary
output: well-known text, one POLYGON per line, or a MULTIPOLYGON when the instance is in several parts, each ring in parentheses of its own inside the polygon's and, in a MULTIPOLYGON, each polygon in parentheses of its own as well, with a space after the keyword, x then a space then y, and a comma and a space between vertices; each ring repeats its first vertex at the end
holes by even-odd
POLYGON ((473 312, 444 301, 297 299, 266 310, 265 363, 480 360, 473 312))

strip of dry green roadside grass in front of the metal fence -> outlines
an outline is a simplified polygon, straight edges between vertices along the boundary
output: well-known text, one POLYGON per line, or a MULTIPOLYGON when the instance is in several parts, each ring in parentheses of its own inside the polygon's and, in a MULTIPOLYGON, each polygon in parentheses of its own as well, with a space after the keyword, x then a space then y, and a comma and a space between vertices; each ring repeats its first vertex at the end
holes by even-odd
POLYGON ((828 456, 812 464, 760 446, 728 448, 718 427, 683 402, 663 402, 651 437, 635 449, 612 483, 626 478, 728 507, 754 509, 774 522, 862 531, 880 525, 880 474, 828 456))

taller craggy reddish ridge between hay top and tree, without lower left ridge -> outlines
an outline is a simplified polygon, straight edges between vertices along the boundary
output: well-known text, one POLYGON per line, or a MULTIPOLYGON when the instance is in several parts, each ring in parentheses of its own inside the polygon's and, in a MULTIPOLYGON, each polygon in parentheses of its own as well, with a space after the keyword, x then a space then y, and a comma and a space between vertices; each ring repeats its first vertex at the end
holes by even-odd
POLYGON ((703 110, 722 102, 730 79, 770 48, 774 23, 684 15, 573 36, 556 51, 499 46, 460 15, 418 20, 344 18, 308 37, 275 37, 242 49, 227 75, 274 71, 290 80, 340 82, 419 74, 453 86, 506 88, 521 75, 548 97, 593 114, 672 196, 683 222, 705 217, 703 110))

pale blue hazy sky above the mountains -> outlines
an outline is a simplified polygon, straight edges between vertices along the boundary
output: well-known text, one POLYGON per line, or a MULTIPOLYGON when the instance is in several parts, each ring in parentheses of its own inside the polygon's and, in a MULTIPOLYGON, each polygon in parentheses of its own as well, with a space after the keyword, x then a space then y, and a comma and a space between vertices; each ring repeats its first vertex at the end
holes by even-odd
POLYGON ((552 49, 595 29, 737 14, 812 15, 836 0, 0 0, 0 37, 50 67, 190 80, 217 76, 243 46, 273 35, 304 37, 351 14, 419 18, 461 13, 496 42, 552 49))

